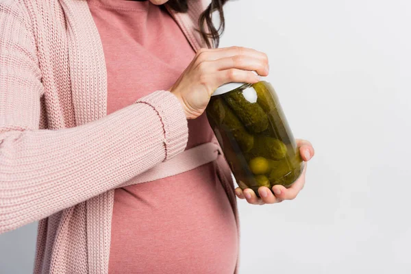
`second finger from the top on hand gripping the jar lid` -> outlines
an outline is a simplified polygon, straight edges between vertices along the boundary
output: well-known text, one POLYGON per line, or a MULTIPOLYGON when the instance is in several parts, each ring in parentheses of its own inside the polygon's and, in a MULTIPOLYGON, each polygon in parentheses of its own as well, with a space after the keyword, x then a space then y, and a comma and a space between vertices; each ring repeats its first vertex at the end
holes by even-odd
POLYGON ((256 71, 258 75, 269 75, 269 63, 253 58, 247 55, 234 55, 231 57, 221 58, 210 62, 210 65, 216 71, 225 71, 227 69, 241 69, 244 71, 256 71))

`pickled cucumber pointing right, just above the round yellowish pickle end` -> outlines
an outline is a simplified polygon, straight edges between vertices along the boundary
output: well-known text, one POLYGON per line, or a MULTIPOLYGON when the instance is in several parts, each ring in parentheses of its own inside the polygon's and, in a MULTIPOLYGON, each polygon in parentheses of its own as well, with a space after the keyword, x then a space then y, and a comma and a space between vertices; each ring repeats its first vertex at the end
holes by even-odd
POLYGON ((254 146, 249 151, 251 157, 264 157, 271 160, 281 160, 286 157, 287 147, 284 142, 268 136, 255 136, 254 146))

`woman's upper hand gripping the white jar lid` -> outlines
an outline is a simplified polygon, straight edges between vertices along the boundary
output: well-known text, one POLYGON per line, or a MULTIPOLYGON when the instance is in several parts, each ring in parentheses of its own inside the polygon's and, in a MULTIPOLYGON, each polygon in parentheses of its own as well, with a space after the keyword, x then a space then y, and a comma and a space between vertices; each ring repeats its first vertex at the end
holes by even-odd
POLYGON ((244 47, 200 49, 177 82, 169 89, 182 104, 187 119, 200 116, 212 93, 223 84, 254 84, 269 74, 267 55, 244 47))

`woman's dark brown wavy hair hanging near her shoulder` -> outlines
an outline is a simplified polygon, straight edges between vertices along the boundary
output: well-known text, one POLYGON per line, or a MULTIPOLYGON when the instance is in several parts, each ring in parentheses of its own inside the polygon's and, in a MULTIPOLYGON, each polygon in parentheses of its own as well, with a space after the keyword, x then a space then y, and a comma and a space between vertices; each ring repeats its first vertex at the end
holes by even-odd
MULTIPOLYGON (((167 4, 176 12, 187 12, 187 1, 190 0, 170 0, 167 4)), ((201 34, 201 37, 208 47, 219 47, 220 36, 223 34, 225 27, 223 5, 227 1, 228 0, 212 0, 208 8, 206 8, 199 18, 198 32, 201 34), (219 12, 220 23, 218 27, 214 26, 212 23, 213 12, 219 12), (212 43, 210 43, 210 38, 212 43)))

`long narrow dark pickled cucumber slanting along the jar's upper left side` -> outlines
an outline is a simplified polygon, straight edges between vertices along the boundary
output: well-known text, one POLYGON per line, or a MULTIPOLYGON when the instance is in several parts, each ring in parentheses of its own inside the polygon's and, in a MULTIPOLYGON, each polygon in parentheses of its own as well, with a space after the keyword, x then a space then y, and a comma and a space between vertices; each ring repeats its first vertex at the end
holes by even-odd
POLYGON ((227 132, 231 132, 242 151, 248 152, 251 150, 254 145, 254 136, 247 132, 223 99, 216 98, 210 101, 208 115, 212 116, 211 118, 214 119, 217 125, 221 125, 225 127, 227 132))

